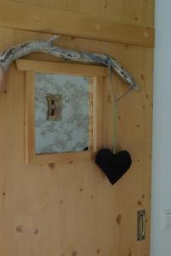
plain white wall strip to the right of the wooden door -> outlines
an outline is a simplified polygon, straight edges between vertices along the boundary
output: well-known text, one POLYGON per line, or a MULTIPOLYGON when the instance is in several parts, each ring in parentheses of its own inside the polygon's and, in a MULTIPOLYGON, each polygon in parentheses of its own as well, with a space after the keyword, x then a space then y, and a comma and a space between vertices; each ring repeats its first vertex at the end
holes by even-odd
POLYGON ((156 0, 151 256, 171 256, 171 0, 156 0))

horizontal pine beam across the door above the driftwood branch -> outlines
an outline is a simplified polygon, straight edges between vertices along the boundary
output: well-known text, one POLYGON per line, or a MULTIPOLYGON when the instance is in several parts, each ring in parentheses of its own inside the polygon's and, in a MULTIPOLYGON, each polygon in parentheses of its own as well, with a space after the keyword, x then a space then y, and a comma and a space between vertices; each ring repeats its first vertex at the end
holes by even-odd
POLYGON ((0 26, 119 44, 154 46, 153 28, 119 24, 95 15, 74 14, 4 0, 0 2, 0 26))

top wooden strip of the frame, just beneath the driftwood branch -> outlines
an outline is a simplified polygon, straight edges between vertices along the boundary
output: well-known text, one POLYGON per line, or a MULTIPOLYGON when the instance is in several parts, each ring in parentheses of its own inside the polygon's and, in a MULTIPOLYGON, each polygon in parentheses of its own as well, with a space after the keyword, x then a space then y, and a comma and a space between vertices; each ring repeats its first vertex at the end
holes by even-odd
POLYGON ((95 65, 52 62, 52 61, 31 61, 20 59, 15 61, 16 67, 20 71, 30 71, 35 73, 59 73, 80 76, 101 76, 107 74, 107 67, 95 65))

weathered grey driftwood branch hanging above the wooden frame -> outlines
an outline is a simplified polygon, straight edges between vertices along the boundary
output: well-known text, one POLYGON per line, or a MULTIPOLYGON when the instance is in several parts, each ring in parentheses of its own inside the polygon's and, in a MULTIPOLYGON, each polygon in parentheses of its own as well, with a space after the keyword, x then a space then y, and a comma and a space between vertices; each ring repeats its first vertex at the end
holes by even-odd
POLYGON ((100 65, 111 68, 111 71, 115 71, 123 81, 125 81, 134 90, 140 90, 140 87, 134 81, 133 77, 128 71, 122 67, 122 65, 116 61, 110 55, 100 55, 96 53, 81 52, 72 49, 62 49, 54 46, 60 36, 56 35, 48 41, 35 41, 26 42, 23 44, 16 45, 9 49, 5 49, 0 53, 0 89, 3 87, 4 74, 8 70, 10 64, 20 59, 23 56, 29 55, 33 52, 43 52, 49 55, 54 55, 70 61, 80 61, 87 63, 99 63, 100 65))

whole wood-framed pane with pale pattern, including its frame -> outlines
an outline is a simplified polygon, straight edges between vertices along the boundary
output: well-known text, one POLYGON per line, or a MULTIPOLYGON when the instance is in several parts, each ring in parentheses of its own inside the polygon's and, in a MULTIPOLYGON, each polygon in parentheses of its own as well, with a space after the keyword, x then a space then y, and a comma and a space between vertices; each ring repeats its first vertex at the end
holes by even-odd
POLYGON ((106 67, 31 60, 16 65, 26 72, 26 164, 94 160, 109 146, 106 67))

